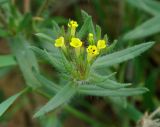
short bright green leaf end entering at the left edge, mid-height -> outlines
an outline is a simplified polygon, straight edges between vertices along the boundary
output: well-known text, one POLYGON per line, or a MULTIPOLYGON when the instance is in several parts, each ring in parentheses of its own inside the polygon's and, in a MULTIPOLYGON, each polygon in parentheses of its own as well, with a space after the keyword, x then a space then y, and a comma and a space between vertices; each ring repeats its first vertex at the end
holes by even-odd
POLYGON ((17 62, 13 55, 2 55, 0 56, 0 67, 14 66, 17 62))

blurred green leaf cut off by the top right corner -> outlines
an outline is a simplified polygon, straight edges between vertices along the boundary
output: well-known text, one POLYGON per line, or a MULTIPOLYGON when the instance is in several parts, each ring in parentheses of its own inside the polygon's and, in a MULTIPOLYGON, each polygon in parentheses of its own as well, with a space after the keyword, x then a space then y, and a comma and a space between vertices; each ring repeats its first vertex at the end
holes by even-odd
POLYGON ((156 0, 127 0, 127 2, 152 15, 160 15, 160 2, 156 0))

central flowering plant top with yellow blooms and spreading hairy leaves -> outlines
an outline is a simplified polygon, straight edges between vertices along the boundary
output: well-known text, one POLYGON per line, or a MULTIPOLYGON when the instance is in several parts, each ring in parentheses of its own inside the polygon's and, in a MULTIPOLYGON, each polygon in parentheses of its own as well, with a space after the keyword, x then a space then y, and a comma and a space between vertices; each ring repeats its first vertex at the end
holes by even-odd
POLYGON ((67 27, 62 28, 53 22, 55 39, 44 33, 36 34, 40 39, 46 39, 53 43, 55 52, 36 47, 32 47, 32 49, 47 57, 60 72, 60 80, 65 79, 65 81, 58 85, 54 83, 56 95, 34 117, 44 115, 63 105, 76 94, 127 97, 147 91, 142 87, 130 88, 130 83, 118 83, 112 80, 115 73, 107 73, 105 70, 109 66, 141 54, 154 42, 143 43, 109 54, 116 42, 109 45, 107 35, 101 35, 101 28, 98 25, 96 28, 94 27, 91 16, 83 11, 82 15, 84 24, 79 30, 79 24, 74 20, 69 20, 67 27))

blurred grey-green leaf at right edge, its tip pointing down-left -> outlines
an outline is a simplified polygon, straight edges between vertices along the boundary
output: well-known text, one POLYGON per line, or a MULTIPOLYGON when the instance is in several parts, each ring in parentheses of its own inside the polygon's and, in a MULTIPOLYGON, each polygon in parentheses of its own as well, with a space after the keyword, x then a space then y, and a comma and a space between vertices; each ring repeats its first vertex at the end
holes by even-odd
POLYGON ((152 19, 144 22, 142 25, 136 27, 134 30, 124 35, 124 40, 140 39, 151 36, 160 32, 160 16, 153 17, 152 19))

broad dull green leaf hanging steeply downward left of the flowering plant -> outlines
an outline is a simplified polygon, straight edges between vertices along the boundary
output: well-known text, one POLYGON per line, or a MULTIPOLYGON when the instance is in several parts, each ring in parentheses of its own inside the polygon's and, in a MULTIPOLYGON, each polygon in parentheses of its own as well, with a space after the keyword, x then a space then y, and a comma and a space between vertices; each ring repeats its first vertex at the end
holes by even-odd
POLYGON ((33 51, 29 48, 29 43, 19 34, 8 40, 12 53, 16 57, 17 63, 24 76, 27 85, 32 88, 40 86, 39 81, 34 77, 33 68, 39 72, 38 63, 33 51))

